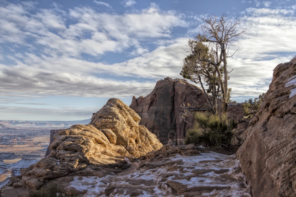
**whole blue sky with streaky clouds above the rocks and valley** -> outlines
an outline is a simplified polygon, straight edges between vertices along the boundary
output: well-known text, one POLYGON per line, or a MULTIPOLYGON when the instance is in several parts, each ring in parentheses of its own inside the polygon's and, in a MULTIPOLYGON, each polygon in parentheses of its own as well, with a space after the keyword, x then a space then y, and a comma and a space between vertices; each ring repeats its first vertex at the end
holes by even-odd
POLYGON ((241 102, 295 56, 295 0, 0 0, 0 120, 84 120, 109 98, 130 105, 181 78, 201 19, 223 13, 248 29, 227 64, 241 102))

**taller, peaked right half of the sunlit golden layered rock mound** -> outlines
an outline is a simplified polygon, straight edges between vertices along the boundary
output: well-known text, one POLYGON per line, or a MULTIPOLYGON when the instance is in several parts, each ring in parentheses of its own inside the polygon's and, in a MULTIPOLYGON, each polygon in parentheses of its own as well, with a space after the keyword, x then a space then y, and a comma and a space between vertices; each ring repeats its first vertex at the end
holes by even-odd
POLYGON ((129 154, 139 157, 162 146, 153 133, 139 125, 140 120, 139 115, 122 101, 109 99, 107 104, 93 115, 89 124, 102 130, 111 143, 116 141, 116 144, 124 146, 129 154))

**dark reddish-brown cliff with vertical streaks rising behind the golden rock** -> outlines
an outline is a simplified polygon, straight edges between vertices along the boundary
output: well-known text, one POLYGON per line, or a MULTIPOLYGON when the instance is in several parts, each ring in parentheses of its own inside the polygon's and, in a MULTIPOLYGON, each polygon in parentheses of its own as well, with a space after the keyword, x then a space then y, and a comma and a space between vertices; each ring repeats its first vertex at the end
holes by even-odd
MULTIPOLYGON (((163 144, 183 145, 186 129, 193 125, 194 116, 182 117, 182 105, 206 104, 203 91, 184 79, 166 77, 157 81, 153 91, 146 97, 133 97, 130 108, 141 117, 144 125, 163 144)), ((229 106, 229 116, 239 120, 243 115, 242 105, 229 106)), ((239 126, 245 130, 247 123, 239 126)))

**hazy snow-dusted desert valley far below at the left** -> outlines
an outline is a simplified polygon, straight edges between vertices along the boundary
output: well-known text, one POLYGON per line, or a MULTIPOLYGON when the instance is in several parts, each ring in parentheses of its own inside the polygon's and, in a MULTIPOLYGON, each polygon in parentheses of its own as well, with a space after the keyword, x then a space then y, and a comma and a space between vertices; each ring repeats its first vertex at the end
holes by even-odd
POLYGON ((90 121, 0 120, 0 187, 10 176, 19 175, 20 168, 29 167, 45 156, 51 129, 86 125, 90 121))

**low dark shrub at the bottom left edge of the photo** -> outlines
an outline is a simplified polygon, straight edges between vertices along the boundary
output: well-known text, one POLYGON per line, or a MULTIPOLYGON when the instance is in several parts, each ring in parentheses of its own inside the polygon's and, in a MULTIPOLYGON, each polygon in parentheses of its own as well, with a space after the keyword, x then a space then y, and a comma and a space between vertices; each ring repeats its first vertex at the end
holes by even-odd
POLYGON ((82 197, 77 192, 67 192, 60 183, 52 181, 46 186, 42 185, 40 189, 33 190, 30 197, 82 197))

